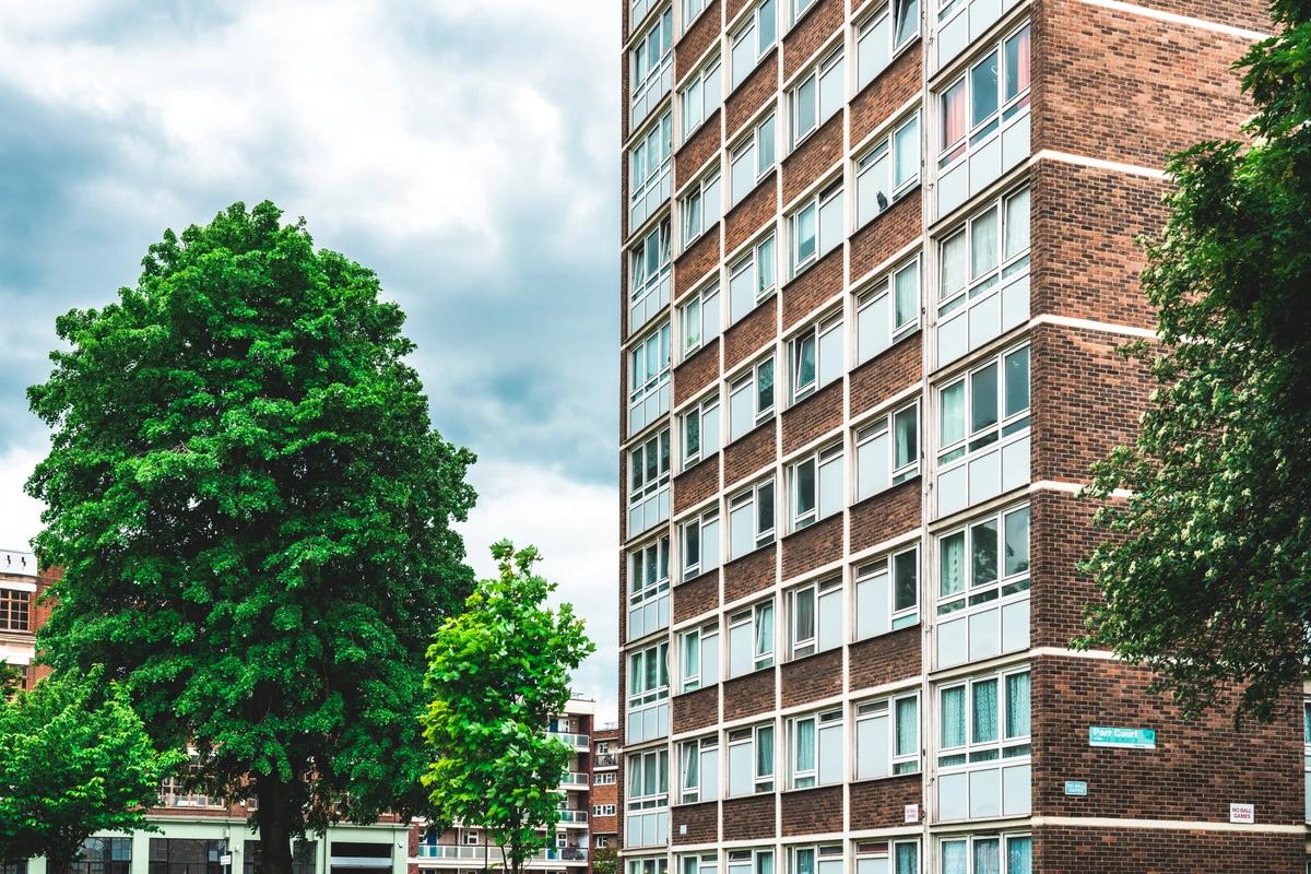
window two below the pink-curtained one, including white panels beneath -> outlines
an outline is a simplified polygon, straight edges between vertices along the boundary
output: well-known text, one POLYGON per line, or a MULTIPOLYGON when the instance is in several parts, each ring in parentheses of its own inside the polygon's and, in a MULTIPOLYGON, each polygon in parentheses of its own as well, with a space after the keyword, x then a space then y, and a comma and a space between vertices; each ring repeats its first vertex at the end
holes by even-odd
POLYGON ((940 388, 937 398, 940 515, 1028 482, 1028 346, 975 367, 940 388))

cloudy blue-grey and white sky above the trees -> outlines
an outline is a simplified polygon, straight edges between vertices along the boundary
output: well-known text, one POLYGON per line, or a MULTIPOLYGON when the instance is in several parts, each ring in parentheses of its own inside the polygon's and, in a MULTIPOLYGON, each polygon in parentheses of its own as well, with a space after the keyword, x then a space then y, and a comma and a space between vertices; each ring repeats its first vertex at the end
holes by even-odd
POLYGON ((39 528, 25 389, 55 317, 134 284, 165 228, 271 199, 408 313, 434 425, 479 455, 471 563, 539 546, 612 718, 620 7, 568 7, 0 4, 0 548, 39 528))

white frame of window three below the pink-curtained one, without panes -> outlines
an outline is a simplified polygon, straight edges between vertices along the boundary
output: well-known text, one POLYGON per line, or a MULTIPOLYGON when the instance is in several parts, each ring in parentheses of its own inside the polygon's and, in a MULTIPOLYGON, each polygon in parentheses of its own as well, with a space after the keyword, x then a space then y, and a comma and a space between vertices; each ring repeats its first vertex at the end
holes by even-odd
MULTIPOLYGON (((999 605, 1024 600, 1029 596, 1029 573, 1032 563, 1032 537, 1033 518, 1029 504, 1021 503, 998 510, 968 523, 957 525, 950 531, 937 536, 937 615, 945 616, 965 611, 966 615, 978 611, 996 609, 999 605), (974 550, 978 544, 978 531, 991 523, 995 536, 996 569, 992 579, 975 580, 974 574, 979 567, 974 550), (1009 558, 1007 550, 1007 533, 1011 524, 1024 527, 1024 546, 1027 554, 1023 561, 1016 561, 1012 570, 1007 569, 1009 558), (960 587, 954 584, 948 591, 947 544, 954 539, 961 540, 961 579, 960 587)), ((1000 611, 999 611, 1000 615, 1000 611)), ((999 620, 1000 621, 1000 620, 999 620)), ((1000 641, 1000 637, 998 638, 1000 641)))

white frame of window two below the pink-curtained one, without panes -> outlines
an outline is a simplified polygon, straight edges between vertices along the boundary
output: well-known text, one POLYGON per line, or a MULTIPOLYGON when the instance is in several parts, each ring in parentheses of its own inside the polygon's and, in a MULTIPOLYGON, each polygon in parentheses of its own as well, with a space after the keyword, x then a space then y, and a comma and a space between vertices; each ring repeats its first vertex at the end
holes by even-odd
POLYGON ((1029 343, 1013 346, 1006 351, 979 362, 961 376, 945 383, 937 389, 937 476, 953 470, 982 452, 1009 446, 1029 436, 1033 409, 1033 359, 1029 343), (1024 397, 1011 397, 1007 388, 1007 368, 1012 362, 1024 360, 1027 379, 1024 397), (974 426, 974 396, 977 380, 994 368, 996 377, 996 410, 992 422, 974 426), (960 398, 960 426, 953 427, 953 417, 948 417, 948 406, 954 406, 960 398), (1023 406, 1020 404, 1023 402, 1023 406), (948 428, 952 428, 950 431, 948 428))

